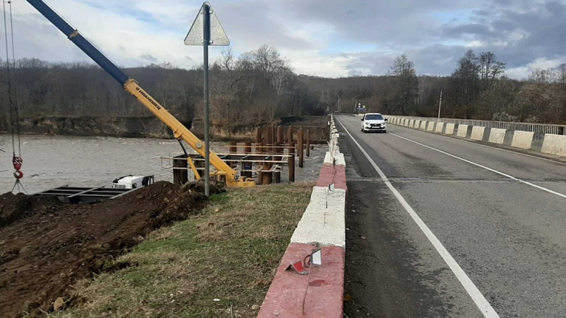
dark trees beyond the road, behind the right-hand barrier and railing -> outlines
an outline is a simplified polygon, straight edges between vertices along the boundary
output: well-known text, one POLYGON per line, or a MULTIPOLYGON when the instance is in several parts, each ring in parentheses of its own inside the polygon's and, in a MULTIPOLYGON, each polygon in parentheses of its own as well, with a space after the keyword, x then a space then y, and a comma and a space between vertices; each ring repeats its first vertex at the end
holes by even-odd
POLYGON ((505 67, 491 51, 468 50, 451 75, 418 76, 402 54, 383 76, 309 76, 307 83, 322 105, 346 112, 361 103, 386 114, 437 117, 440 108, 444 118, 566 124, 566 63, 525 80, 508 78, 505 67))

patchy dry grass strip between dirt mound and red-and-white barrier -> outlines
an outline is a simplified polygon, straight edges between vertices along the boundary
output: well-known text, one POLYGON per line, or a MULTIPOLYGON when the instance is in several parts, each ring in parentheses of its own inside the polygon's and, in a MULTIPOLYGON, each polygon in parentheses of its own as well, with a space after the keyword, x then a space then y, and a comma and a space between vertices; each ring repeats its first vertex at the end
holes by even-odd
POLYGON ((263 302, 312 186, 212 196, 199 216, 155 231, 114 262, 130 267, 78 282, 82 306, 49 317, 256 317, 251 306, 263 302))

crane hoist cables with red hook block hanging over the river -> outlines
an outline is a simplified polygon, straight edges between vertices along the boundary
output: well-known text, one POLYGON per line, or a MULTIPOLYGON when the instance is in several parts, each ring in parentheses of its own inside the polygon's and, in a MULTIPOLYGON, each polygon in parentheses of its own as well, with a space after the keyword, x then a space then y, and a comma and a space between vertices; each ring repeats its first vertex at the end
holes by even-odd
MULTIPOLYGON (((11 32, 11 42, 12 42, 12 62, 16 62, 15 53, 14 53, 14 23, 12 21, 12 1, 7 1, 8 5, 10 5, 10 32, 11 32)), ((19 115, 19 107, 18 107, 18 94, 15 94, 15 104, 12 101, 12 80, 10 76, 10 53, 8 51, 8 27, 6 23, 6 1, 2 0, 2 8, 4 14, 4 34, 6 37, 6 70, 7 70, 7 82, 8 82, 8 101, 10 101, 10 132, 12 135, 12 164, 14 165, 14 178, 16 178, 16 182, 14 183, 14 187, 12 187, 12 192, 18 187, 18 192, 25 191, 23 184, 20 182, 20 179, 24 177, 24 174, 20 170, 22 168, 23 160, 22 160, 22 145, 20 143, 20 115, 19 115), (16 156, 16 143, 15 143, 15 134, 14 134, 14 113, 16 117, 16 134, 18 135, 18 156, 16 156)), ((15 71, 14 71, 15 76, 15 71)))

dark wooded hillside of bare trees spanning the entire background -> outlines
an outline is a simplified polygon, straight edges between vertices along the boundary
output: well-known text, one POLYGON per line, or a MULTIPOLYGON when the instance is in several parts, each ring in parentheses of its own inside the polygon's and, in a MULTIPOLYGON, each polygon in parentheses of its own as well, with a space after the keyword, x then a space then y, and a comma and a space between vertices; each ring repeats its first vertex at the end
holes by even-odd
MULTIPOLYGON (((476 55, 471 50, 450 76, 419 76, 406 55, 392 61, 391 70, 382 76, 319 78, 297 75, 290 65, 272 46, 239 57, 224 51, 211 65, 211 121, 253 123, 287 115, 351 112, 357 103, 370 111, 436 117, 442 91, 442 117, 566 123, 566 65, 535 70, 522 81, 507 78, 505 63, 494 53, 476 55)), ((10 70, 10 96, 22 117, 149 115, 96 65, 23 58, 9 65, 2 61, 2 66, 2 114, 10 110, 10 70)), ((124 71, 182 121, 200 115, 201 68, 162 63, 124 71)))

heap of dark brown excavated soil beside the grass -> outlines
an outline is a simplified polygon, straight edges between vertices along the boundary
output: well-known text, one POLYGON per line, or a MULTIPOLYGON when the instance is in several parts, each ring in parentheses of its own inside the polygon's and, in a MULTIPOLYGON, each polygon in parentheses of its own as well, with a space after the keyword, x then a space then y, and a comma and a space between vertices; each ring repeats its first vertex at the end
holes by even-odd
MULTIPOLYGON (((220 191, 211 187, 211 193, 220 191)), ((76 280, 100 273, 105 261, 128 252, 152 230, 198 212, 206 203, 203 192, 200 183, 157 182, 85 205, 1 195, 0 317, 38 317, 53 311, 54 303, 64 308, 81 302, 70 293, 76 280)))

